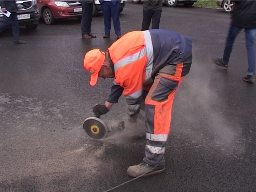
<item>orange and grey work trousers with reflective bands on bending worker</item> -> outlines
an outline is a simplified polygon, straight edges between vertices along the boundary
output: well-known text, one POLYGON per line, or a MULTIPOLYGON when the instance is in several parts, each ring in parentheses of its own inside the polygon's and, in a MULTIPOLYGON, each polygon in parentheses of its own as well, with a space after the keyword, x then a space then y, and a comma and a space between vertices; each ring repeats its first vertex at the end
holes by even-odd
POLYGON ((171 127, 172 102, 184 78, 184 69, 189 71, 191 63, 192 55, 183 63, 164 66, 145 98, 146 146, 143 161, 147 164, 165 164, 165 144, 171 127))

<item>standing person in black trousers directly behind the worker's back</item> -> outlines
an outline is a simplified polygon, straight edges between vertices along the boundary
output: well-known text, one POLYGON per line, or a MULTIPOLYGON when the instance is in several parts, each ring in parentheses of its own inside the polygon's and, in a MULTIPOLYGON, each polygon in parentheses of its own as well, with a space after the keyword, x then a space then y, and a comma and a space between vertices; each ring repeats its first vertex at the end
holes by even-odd
POLYGON ((142 31, 148 30, 151 18, 152 29, 159 29, 162 14, 162 0, 145 0, 143 3, 142 31))

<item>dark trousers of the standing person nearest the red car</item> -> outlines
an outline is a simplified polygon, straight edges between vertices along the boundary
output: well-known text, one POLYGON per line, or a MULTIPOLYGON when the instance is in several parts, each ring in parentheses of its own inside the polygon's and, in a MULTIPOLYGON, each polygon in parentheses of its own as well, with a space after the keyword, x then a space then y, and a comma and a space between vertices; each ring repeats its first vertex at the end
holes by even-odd
POLYGON ((92 3, 82 4, 81 32, 83 34, 91 33, 92 21, 92 3))

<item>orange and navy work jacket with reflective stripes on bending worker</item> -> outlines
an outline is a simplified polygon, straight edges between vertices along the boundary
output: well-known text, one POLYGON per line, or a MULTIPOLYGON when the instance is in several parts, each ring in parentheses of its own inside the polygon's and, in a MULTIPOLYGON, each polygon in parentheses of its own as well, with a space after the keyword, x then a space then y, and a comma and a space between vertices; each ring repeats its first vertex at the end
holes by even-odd
MULTIPOLYGON (((191 52, 191 38, 175 32, 154 29, 125 34, 108 48, 115 78, 107 101, 117 103, 123 94, 128 114, 137 114, 142 102, 143 85, 153 82, 166 64, 182 63, 191 56, 191 52)), ((190 66, 183 66, 181 75, 186 75, 189 70, 190 66)))

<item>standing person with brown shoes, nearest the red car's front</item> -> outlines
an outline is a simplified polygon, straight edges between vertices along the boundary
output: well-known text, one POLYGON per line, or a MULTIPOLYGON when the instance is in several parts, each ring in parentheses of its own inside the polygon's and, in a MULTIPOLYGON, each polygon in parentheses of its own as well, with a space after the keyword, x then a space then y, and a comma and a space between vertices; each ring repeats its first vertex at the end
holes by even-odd
POLYGON ((96 35, 91 33, 92 7, 94 1, 95 0, 80 0, 82 4, 82 39, 96 38, 96 35))

